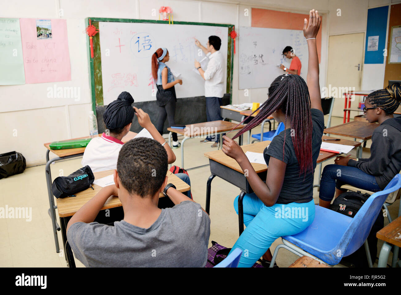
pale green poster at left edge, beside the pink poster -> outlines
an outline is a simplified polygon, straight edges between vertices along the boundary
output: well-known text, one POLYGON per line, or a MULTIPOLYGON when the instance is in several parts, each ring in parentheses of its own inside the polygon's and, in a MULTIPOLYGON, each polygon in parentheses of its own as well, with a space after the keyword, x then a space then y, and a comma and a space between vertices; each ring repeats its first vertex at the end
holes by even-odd
POLYGON ((0 18, 0 85, 25 83, 18 18, 0 18))

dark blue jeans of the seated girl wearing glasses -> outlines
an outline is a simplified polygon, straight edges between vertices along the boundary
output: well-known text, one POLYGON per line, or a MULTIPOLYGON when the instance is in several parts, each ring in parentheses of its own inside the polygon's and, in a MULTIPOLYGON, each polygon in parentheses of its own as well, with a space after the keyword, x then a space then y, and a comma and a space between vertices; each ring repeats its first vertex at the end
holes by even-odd
POLYGON ((366 189, 367 191, 381 191, 373 175, 367 174, 356 167, 331 164, 323 169, 319 198, 323 201, 331 201, 334 197, 335 188, 340 189, 344 184, 352 185, 358 189, 366 189))

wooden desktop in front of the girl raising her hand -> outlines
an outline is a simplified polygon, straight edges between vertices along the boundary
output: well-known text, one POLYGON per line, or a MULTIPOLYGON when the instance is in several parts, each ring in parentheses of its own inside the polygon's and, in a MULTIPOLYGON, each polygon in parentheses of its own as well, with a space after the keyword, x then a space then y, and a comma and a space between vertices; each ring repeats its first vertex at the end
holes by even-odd
MULTIPOLYGON (((322 136, 322 140, 324 138, 334 138, 334 137, 329 137, 329 136, 322 136)), ((352 141, 352 140, 346 140, 346 139, 341 139, 341 140, 333 140, 332 143, 337 143, 337 144, 345 144, 345 145, 352 145, 352 146, 360 146, 360 142, 352 141)), ((254 152, 254 153, 263 153, 264 149, 266 146, 270 144, 269 140, 261 141, 261 142, 255 142, 251 144, 245 144, 241 146, 242 150, 244 153, 247 151, 254 152)), ((225 153, 223 153, 222 150, 218 151, 212 151, 212 152, 207 152, 204 154, 205 157, 214 160, 220 164, 223 164, 231 169, 234 169, 235 171, 243 173, 241 167, 235 161, 233 158, 230 158, 227 156, 225 153)), ((320 151, 318 160, 316 161, 317 163, 320 163, 322 161, 325 161, 327 159, 330 159, 334 156, 338 155, 337 153, 330 153, 326 151, 320 151)), ((256 173, 264 172, 267 170, 267 165, 266 164, 259 164, 259 163, 251 163, 253 169, 255 169, 256 173)))

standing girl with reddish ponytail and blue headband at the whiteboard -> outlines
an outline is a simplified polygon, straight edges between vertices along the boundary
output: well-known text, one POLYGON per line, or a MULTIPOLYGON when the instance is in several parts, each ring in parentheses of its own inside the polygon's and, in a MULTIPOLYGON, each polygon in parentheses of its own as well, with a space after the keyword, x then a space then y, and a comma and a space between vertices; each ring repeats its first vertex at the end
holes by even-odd
MULTIPOLYGON (((163 134, 163 125, 166 118, 170 126, 175 125, 175 106, 176 106, 176 93, 174 85, 182 85, 182 80, 174 80, 170 68, 165 64, 169 61, 170 56, 166 48, 159 48, 152 55, 152 76, 156 81, 157 93, 156 103, 159 112, 159 120, 156 123, 156 129, 163 134)), ((174 132, 173 136, 173 149, 180 146, 177 134, 174 132)))

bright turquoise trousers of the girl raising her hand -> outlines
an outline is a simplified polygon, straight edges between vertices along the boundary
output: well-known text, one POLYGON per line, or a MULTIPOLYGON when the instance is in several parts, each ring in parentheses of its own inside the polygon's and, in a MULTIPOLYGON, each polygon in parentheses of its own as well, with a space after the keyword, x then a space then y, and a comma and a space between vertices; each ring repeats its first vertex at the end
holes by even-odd
MULTIPOLYGON (((238 196, 234 208, 238 214, 238 196)), ((243 209, 246 228, 233 246, 242 250, 238 267, 251 267, 277 238, 302 232, 315 218, 313 200, 267 207, 255 193, 247 193, 243 209)))

